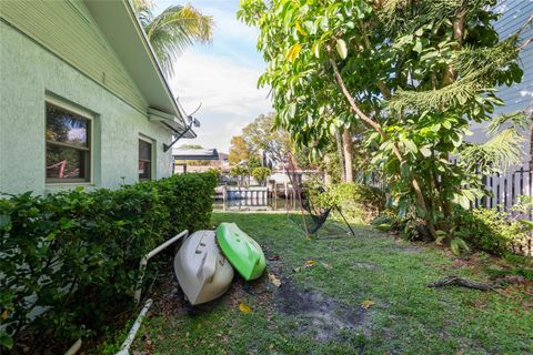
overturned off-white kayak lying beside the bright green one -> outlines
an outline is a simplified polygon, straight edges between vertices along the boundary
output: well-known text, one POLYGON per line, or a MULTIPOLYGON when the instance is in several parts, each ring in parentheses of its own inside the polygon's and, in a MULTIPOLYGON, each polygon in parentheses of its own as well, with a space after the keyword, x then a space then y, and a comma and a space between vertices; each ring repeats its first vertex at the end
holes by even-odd
POLYGON ((214 231, 198 231, 183 242, 174 272, 192 305, 220 297, 233 280, 233 267, 220 252, 214 231))

